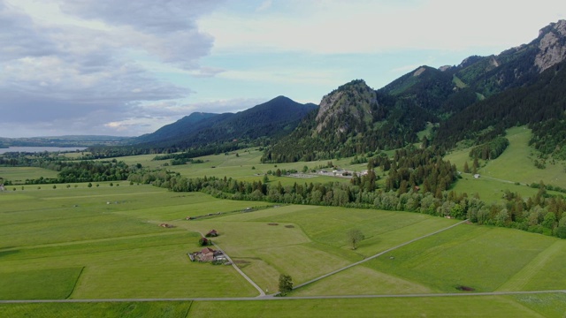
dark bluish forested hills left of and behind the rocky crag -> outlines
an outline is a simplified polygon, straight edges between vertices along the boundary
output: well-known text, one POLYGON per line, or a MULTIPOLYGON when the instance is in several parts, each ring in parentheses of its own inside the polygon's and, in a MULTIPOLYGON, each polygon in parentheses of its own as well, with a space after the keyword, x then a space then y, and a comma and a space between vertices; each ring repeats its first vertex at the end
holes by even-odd
POLYGON ((195 148, 234 140, 279 139, 291 133, 317 105, 278 96, 238 113, 193 113, 155 133, 138 137, 139 147, 195 148))

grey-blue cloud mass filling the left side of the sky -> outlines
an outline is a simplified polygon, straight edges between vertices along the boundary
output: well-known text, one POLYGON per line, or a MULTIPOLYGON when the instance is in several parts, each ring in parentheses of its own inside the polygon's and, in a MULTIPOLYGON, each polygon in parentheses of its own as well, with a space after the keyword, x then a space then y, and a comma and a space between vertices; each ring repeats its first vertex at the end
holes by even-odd
POLYGON ((215 5, 0 0, 0 125, 117 132, 106 124, 128 120, 141 102, 186 98, 189 88, 157 78, 136 52, 172 69, 220 72, 199 65, 212 38, 195 25, 215 5))

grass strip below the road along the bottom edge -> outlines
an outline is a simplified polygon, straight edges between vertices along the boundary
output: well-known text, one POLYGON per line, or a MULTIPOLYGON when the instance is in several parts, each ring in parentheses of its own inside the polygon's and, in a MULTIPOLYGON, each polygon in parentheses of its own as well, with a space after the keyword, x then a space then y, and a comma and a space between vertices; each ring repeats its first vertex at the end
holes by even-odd
POLYGON ((566 294, 270 301, 1 304, 4 317, 548 317, 563 318, 566 294))

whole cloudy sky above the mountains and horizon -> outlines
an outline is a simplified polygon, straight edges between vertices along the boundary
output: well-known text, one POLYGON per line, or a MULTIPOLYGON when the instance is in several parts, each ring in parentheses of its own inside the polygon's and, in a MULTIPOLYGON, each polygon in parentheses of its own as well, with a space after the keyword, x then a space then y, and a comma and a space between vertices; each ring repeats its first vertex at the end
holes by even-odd
POLYGON ((0 0, 0 137, 139 136, 279 95, 318 104, 559 19, 563 0, 0 0))

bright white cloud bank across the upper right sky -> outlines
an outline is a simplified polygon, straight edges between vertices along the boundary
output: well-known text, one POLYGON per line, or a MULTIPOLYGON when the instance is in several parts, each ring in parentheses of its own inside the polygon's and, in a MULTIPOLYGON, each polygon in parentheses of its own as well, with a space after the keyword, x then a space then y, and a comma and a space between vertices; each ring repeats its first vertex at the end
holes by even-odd
POLYGON ((270 14, 216 11, 199 21, 215 51, 377 53, 391 49, 509 48, 537 36, 566 4, 478 0, 287 1, 270 14), (297 12, 300 8, 300 12, 297 12))

